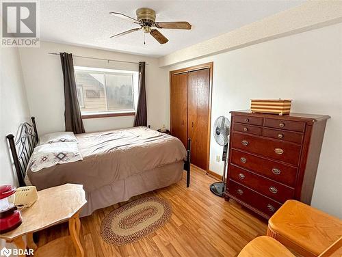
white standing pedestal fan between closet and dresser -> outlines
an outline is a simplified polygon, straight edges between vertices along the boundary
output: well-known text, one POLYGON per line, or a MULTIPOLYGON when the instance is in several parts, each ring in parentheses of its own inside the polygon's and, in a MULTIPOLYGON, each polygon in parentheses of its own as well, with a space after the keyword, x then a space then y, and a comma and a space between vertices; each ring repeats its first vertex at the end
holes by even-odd
POLYGON ((226 166, 227 166, 227 151, 228 151, 228 142, 229 142, 229 133, 231 131, 231 122, 229 122, 228 118, 224 116, 220 116, 215 120, 213 134, 216 143, 220 146, 223 146, 222 153, 222 161, 224 161, 222 182, 214 182, 210 185, 210 191, 215 195, 223 197, 224 189, 226 183, 226 166))

